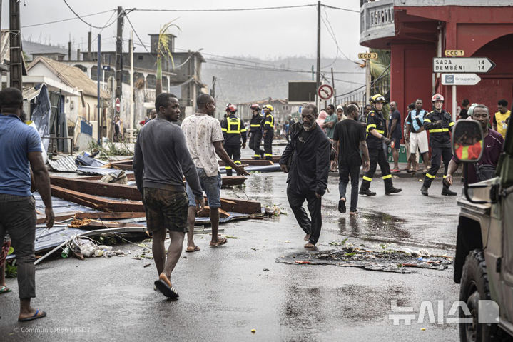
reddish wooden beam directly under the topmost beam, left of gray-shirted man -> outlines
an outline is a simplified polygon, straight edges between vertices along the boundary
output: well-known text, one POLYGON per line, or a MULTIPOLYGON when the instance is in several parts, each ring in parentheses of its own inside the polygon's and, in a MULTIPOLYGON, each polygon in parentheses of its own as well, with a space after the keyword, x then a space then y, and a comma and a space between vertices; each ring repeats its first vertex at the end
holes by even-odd
POLYGON ((68 190, 66 188, 61 188, 60 186, 55 185, 51 185, 51 195, 99 211, 144 211, 143 202, 141 201, 112 201, 106 198, 92 196, 78 191, 68 190))

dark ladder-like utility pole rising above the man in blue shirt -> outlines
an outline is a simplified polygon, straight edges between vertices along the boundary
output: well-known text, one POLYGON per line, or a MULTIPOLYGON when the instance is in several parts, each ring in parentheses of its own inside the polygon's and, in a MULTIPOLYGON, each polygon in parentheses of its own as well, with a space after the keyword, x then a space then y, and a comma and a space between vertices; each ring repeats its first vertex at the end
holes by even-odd
POLYGON ((11 49, 9 51, 9 86, 23 91, 21 79, 21 22, 19 14, 19 1, 9 0, 9 40, 11 49))

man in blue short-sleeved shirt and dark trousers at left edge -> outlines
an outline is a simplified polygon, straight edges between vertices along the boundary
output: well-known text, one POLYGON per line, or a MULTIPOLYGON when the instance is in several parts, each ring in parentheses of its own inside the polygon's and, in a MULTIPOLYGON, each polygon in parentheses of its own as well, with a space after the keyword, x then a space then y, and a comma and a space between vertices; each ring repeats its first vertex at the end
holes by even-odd
POLYGON ((22 108, 19 89, 0 91, 0 241, 9 233, 16 253, 21 301, 18 321, 31 321, 46 313, 30 306, 31 298, 36 297, 36 201, 31 195, 30 169, 46 207, 46 228, 54 225, 54 211, 50 178, 41 156, 41 139, 35 129, 21 121, 22 108))

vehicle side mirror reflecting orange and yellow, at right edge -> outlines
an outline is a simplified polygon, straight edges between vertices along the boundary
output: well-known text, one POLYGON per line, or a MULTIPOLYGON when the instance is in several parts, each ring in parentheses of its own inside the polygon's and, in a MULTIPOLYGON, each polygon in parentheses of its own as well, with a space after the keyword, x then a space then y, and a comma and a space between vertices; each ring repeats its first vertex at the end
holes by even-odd
POLYGON ((475 163, 484 150, 481 124, 475 120, 459 120, 452 129, 452 154, 464 163, 475 163))

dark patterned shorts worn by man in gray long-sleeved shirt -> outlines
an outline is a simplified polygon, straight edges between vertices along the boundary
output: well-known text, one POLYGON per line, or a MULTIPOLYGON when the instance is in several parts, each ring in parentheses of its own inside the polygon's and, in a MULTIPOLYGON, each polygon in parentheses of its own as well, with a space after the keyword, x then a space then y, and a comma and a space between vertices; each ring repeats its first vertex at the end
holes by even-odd
POLYGON ((166 229, 187 232, 187 193, 144 188, 144 209, 148 231, 166 229))

